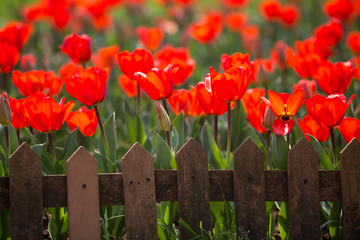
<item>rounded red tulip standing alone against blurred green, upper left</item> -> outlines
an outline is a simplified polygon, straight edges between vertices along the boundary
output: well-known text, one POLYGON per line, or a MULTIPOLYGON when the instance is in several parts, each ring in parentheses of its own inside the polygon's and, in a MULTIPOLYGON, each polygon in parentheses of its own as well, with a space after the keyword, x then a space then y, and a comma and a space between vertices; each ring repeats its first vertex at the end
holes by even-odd
POLYGON ((91 39, 86 34, 77 36, 75 33, 65 37, 61 51, 75 63, 85 63, 91 58, 91 39))

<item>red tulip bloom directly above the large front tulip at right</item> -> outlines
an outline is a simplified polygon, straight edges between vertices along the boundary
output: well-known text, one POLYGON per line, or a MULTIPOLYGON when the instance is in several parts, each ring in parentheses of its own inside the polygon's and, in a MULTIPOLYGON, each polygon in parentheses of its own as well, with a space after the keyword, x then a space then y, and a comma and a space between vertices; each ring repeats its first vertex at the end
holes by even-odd
POLYGON ((333 93, 344 93, 351 83, 353 74, 352 60, 335 64, 324 61, 319 66, 314 78, 321 90, 330 95, 333 93))

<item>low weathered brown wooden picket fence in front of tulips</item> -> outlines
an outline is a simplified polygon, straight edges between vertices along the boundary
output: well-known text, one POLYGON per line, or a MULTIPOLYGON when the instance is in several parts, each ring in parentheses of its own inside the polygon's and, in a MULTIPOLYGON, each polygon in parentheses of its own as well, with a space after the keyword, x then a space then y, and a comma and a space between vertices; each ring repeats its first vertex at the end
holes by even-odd
MULTIPOLYGON (((42 239, 46 207, 68 207, 70 239, 100 239, 100 205, 125 205, 127 239, 157 239, 156 202, 178 201, 192 229, 210 228, 210 201, 234 201, 238 228, 266 235, 265 201, 288 201, 291 239, 320 239, 319 201, 342 202, 344 239, 360 236, 360 142, 341 152, 341 170, 318 170, 318 154, 303 138, 288 153, 288 170, 264 171, 264 154, 247 139, 234 152, 234 170, 208 170, 207 152, 190 139, 177 153, 177 170, 154 170, 140 144, 122 159, 123 173, 98 174, 80 147, 67 175, 42 176, 40 157, 22 144, 0 178, 0 209, 10 208, 12 239, 42 239)), ((182 239, 190 239, 180 228, 182 239)))

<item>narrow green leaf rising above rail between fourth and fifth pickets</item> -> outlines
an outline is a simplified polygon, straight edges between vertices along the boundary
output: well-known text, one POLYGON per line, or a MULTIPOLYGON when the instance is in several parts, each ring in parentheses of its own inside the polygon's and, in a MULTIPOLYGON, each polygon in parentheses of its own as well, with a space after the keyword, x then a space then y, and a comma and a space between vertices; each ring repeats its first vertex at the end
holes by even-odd
POLYGON ((212 129, 206 120, 201 131, 201 135, 202 146, 208 152, 208 161, 210 166, 215 169, 226 169, 225 158, 222 156, 218 146, 216 145, 212 129))

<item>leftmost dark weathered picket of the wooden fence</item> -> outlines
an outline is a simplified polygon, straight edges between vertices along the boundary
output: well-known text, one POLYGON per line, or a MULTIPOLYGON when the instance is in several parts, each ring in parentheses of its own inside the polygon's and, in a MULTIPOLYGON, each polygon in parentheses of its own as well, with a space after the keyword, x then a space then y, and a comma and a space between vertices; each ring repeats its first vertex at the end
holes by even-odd
POLYGON ((11 239, 43 238, 41 158, 23 143, 9 159, 11 239))

